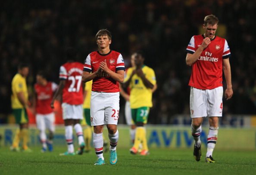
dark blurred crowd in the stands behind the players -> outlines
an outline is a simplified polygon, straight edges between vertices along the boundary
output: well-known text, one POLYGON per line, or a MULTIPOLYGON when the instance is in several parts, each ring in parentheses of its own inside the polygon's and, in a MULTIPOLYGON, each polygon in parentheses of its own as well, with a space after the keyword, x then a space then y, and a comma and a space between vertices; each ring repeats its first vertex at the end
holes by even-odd
MULTIPOLYGON (((131 53, 140 49, 145 64, 156 72, 158 89, 149 123, 173 124, 177 114, 190 114, 191 68, 185 63, 185 50, 193 35, 203 34, 203 18, 209 14, 219 18, 217 35, 228 41, 232 55, 234 96, 223 101, 223 117, 255 115, 255 9, 255 0, 4 1, 0 7, 0 123, 7 123, 11 114, 11 80, 19 62, 30 64, 30 93, 38 70, 47 71, 49 79, 59 83, 65 48, 75 47, 84 62, 97 50, 97 31, 107 28, 112 33, 111 49, 122 53, 126 67, 131 53)), ((121 108, 124 102, 121 99, 121 108)))

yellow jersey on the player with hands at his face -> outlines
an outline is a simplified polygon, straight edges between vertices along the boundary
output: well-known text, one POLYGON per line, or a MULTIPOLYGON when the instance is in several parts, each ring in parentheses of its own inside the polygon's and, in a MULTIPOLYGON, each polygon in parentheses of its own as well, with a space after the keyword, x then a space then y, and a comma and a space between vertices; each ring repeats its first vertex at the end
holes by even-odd
MULTIPOLYGON (((129 79, 134 69, 135 68, 128 68, 125 81, 129 79)), ((156 76, 153 69, 144 65, 142 67, 142 71, 145 77, 147 78, 147 80, 149 80, 150 83, 155 85, 156 76)), ((134 76, 131 78, 131 82, 129 86, 131 88, 131 92, 130 92, 131 109, 139 108, 139 107, 152 107, 152 89, 147 88, 142 82, 141 78, 137 76, 137 74, 134 74, 134 76)))

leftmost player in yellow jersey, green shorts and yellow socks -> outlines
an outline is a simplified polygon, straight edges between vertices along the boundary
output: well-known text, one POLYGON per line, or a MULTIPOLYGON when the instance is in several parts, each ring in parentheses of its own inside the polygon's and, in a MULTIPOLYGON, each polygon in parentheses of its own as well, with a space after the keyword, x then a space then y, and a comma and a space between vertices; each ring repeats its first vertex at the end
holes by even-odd
POLYGON ((19 151, 19 141, 22 140, 22 150, 31 152, 28 148, 28 88, 26 84, 26 77, 28 76, 29 68, 25 63, 18 66, 18 73, 12 79, 12 111, 16 123, 19 124, 19 129, 13 138, 11 150, 19 151))

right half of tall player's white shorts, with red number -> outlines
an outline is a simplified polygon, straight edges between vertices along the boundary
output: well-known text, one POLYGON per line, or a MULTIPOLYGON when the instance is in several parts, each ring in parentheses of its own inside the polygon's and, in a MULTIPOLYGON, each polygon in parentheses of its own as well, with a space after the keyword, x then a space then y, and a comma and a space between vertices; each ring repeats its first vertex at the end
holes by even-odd
POLYGON ((209 117, 222 117, 222 97, 223 87, 217 87, 215 89, 207 90, 208 103, 207 114, 209 117))

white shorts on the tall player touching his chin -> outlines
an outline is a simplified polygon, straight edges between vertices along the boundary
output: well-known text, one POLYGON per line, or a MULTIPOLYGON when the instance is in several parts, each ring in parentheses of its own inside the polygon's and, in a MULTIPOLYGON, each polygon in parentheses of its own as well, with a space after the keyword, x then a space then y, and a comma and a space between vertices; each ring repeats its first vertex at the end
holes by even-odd
POLYGON ((190 88, 190 117, 222 117, 223 87, 215 89, 190 88))

